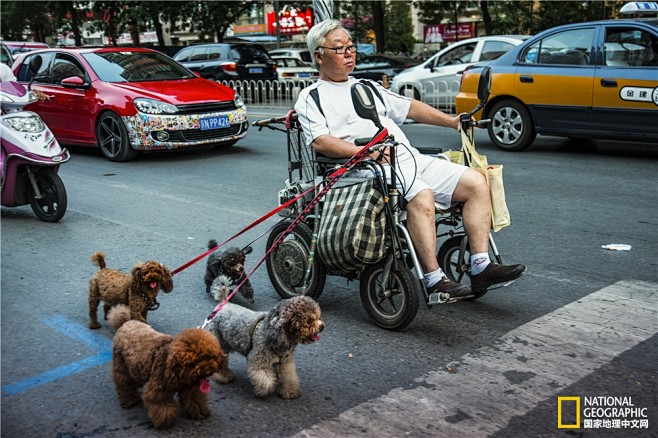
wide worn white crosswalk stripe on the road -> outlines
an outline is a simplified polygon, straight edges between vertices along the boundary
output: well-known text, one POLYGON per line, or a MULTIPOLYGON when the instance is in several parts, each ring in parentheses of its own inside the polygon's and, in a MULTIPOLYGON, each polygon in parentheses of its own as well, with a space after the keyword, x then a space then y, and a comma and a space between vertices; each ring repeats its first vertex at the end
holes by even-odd
POLYGON ((431 435, 426 425, 446 437, 493 434, 658 332, 657 290, 615 283, 462 356, 455 372, 431 372, 417 388, 395 388, 294 436, 431 435))

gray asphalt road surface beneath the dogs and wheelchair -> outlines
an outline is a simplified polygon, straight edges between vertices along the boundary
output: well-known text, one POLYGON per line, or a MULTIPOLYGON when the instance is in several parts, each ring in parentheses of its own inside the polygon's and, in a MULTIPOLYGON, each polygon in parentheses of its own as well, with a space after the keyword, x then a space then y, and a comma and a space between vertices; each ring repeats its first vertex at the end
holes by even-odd
MULTIPOLYGON (((418 144, 459 141, 423 125, 405 131, 418 144)), ((124 272, 148 259, 173 269, 210 238, 242 230, 277 205, 285 135, 252 128, 228 149, 128 163, 73 149, 61 169, 69 207, 60 223, 39 222, 29 207, 2 208, 2 436, 656 436, 656 145, 539 138, 525 152, 504 153, 482 133, 477 145, 505 165, 512 225, 496 242, 506 262, 528 266, 524 278, 476 302, 421 305, 408 328, 388 332, 368 320, 358 282, 330 277, 320 298, 326 329, 320 342, 297 350, 301 398, 254 397, 235 356, 236 380, 212 383, 212 417, 182 418, 166 431, 153 429, 142 406, 118 404, 113 332, 104 322, 87 328, 90 256, 102 250, 108 266, 124 272), (610 243, 632 249, 601 248, 610 243), (560 397, 578 398, 583 425, 592 416, 582 409, 600 400, 630 403, 645 416, 558 428, 558 406, 563 425, 577 411, 560 397)), ((233 243, 245 245, 274 223, 233 243)), ((265 240, 253 242, 248 267, 265 240)), ((204 270, 205 260, 180 272, 174 291, 160 295, 149 315, 157 330, 198 326, 213 310, 204 270)), ((251 279, 252 308, 278 302, 264 266, 251 279)))

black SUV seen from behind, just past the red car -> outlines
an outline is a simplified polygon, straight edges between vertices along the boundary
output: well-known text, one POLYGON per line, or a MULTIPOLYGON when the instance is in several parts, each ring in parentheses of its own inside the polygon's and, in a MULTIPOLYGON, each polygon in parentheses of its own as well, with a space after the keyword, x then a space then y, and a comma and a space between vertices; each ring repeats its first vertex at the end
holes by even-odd
POLYGON ((277 79, 276 62, 259 44, 199 44, 181 49, 174 60, 215 81, 277 79))

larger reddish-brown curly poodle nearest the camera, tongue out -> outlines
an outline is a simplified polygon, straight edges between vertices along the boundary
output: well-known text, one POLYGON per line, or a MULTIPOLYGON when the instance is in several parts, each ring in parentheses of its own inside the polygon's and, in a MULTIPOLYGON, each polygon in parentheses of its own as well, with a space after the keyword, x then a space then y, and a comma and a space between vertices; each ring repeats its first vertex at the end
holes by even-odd
POLYGON ((193 420, 210 415, 208 377, 226 366, 226 354, 217 339, 200 328, 189 328, 172 337, 148 324, 130 320, 125 305, 113 307, 109 323, 117 333, 112 342, 112 380, 121 407, 141 400, 157 428, 172 426, 183 414, 193 420))

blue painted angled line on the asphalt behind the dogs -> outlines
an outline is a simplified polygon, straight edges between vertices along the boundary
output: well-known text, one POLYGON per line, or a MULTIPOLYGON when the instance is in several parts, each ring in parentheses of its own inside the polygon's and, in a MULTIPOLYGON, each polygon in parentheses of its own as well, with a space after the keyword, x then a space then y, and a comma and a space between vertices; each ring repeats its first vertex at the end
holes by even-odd
POLYGON ((66 336, 82 342, 88 348, 97 351, 97 354, 46 371, 37 376, 4 385, 2 387, 3 396, 18 394, 28 389, 54 382, 55 380, 64 379, 72 374, 81 373, 89 368, 107 363, 112 359, 112 341, 96 333, 91 333, 87 327, 76 324, 59 315, 47 318, 43 320, 43 323, 66 336))

